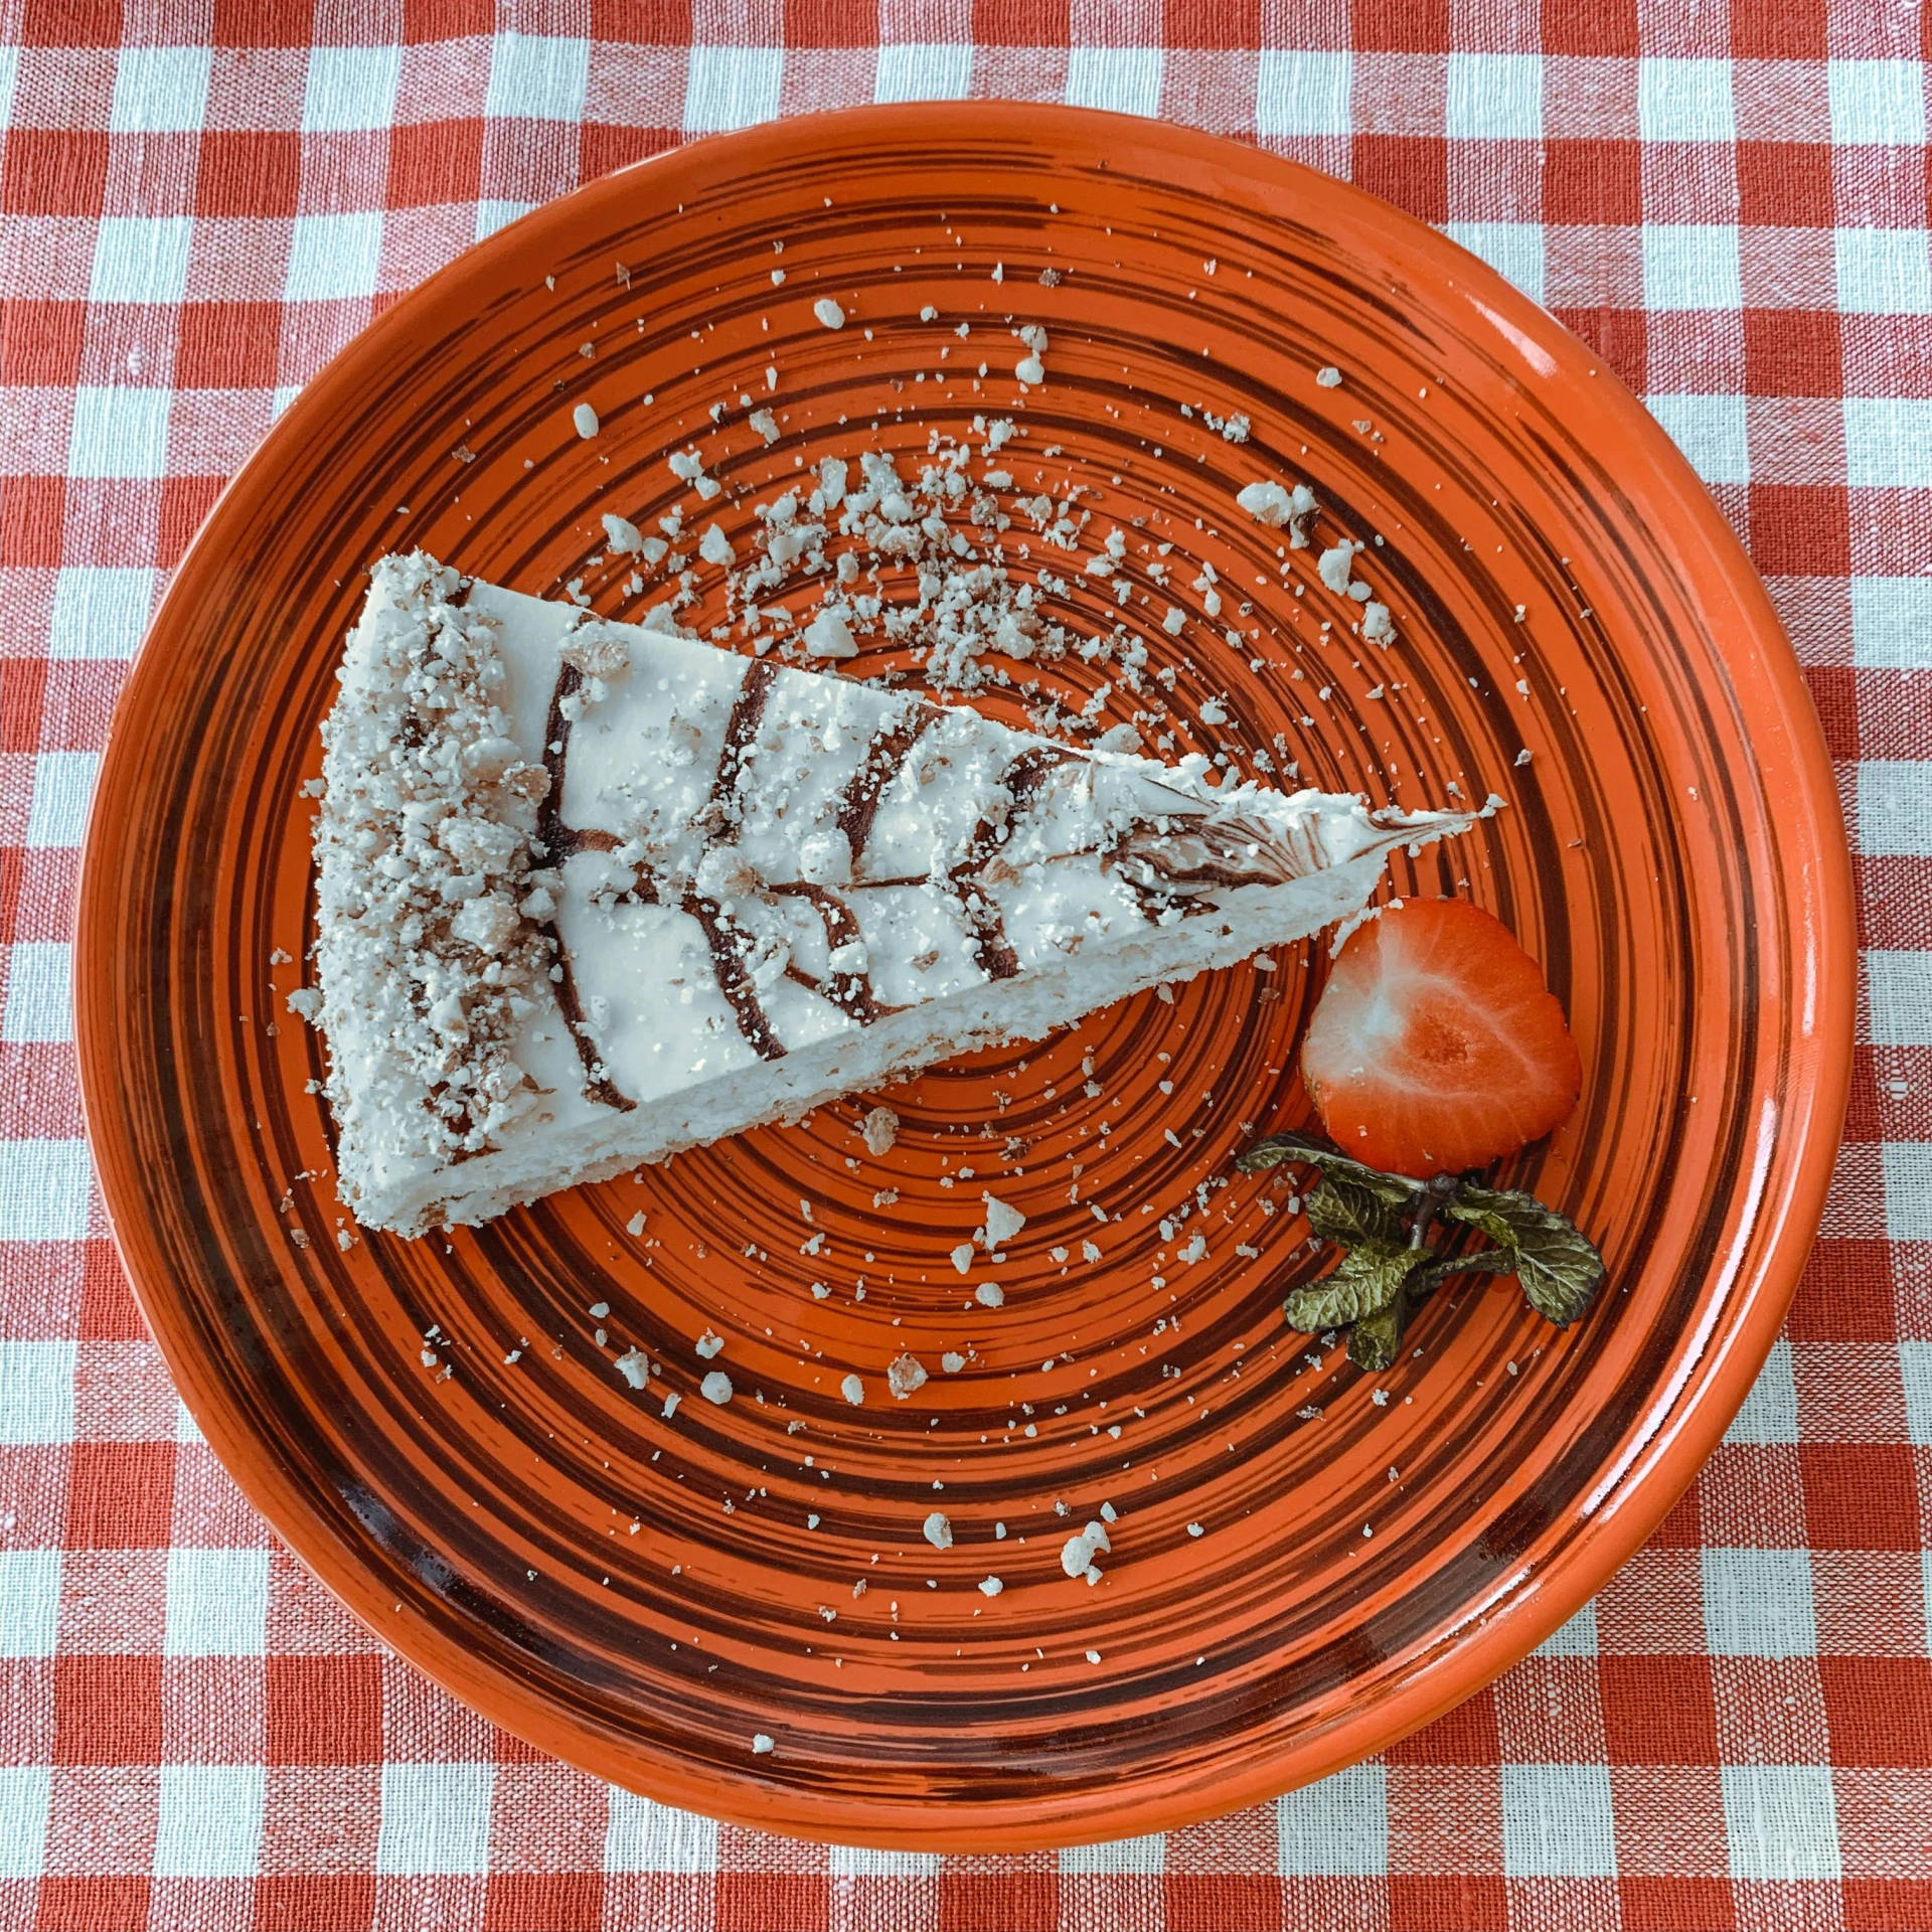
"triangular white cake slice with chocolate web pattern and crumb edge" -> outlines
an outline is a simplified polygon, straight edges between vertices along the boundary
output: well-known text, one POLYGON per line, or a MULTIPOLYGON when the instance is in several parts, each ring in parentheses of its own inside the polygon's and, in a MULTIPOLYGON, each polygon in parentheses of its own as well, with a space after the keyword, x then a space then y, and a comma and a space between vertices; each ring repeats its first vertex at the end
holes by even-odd
POLYGON ((1208 786, 421 554, 375 566, 338 676, 294 1005, 342 1200, 402 1235, 1302 939, 1468 823, 1208 786))

